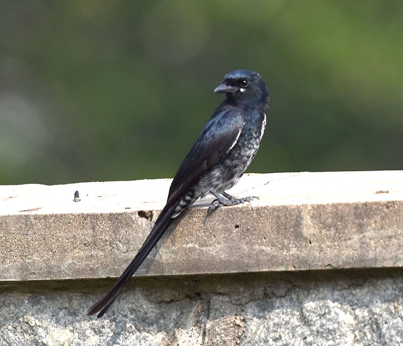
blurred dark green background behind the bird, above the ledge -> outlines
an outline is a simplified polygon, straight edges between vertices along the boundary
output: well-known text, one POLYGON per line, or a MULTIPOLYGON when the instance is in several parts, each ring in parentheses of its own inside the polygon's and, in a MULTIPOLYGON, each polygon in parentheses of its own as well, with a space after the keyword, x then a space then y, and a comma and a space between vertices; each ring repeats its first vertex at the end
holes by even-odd
POLYGON ((403 169, 401 1, 4 1, 0 184, 173 177, 223 95, 271 95, 249 172, 403 169))

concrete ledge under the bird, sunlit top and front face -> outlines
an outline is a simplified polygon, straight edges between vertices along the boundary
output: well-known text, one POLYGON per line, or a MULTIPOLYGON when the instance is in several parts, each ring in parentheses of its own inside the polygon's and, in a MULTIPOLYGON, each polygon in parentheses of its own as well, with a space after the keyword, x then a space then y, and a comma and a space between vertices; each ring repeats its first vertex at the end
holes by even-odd
MULTIPOLYGON (((0 281, 120 275, 150 232, 169 184, 1 186, 0 281)), ((403 265, 402 171, 248 174, 230 192, 259 200, 211 217, 211 199, 198 202, 138 274, 403 265)))

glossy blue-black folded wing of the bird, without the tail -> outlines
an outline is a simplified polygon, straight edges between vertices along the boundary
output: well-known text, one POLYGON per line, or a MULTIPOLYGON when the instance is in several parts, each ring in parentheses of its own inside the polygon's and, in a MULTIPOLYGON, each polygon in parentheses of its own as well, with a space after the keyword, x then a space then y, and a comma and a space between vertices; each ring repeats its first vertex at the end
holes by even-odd
POLYGON ((216 112, 186 155, 169 189, 166 206, 175 203, 207 170, 232 147, 245 124, 244 116, 234 109, 216 112))

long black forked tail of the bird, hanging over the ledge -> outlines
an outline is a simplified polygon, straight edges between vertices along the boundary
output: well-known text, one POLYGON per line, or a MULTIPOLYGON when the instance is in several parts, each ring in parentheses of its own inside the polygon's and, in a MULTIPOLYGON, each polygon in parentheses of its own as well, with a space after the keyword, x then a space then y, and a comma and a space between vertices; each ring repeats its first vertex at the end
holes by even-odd
POLYGON ((166 210, 165 208, 162 210, 161 214, 157 218, 157 221, 154 224, 151 233, 144 241, 142 247, 139 252, 136 254, 135 258, 130 262, 127 268, 123 271, 123 273, 117 279, 115 285, 109 290, 109 292, 97 303, 90 307, 87 315, 91 316, 96 314, 97 317, 102 317, 110 308, 110 306, 115 301, 118 294, 121 292, 123 287, 129 282, 131 276, 136 272, 136 270, 140 267, 143 261, 146 259, 150 251, 154 248, 157 242, 161 239, 162 235, 169 227, 172 222, 171 216, 175 211, 175 204, 170 205, 166 210))

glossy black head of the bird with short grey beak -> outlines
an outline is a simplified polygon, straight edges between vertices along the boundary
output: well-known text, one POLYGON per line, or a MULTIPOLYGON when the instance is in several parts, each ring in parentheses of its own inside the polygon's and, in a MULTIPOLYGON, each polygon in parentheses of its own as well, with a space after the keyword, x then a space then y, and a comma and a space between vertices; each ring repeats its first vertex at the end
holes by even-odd
POLYGON ((242 103, 252 107, 267 108, 268 91, 261 76, 250 70, 236 70, 224 76, 223 82, 214 90, 226 93, 230 103, 242 103))

